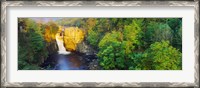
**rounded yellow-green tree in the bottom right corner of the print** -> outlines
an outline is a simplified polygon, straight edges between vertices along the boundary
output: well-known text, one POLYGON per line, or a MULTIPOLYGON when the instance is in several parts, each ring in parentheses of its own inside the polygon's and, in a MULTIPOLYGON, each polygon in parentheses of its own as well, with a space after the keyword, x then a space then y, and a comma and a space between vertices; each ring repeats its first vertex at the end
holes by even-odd
POLYGON ((142 60, 145 70, 181 70, 182 54, 169 41, 155 42, 145 50, 142 60))

